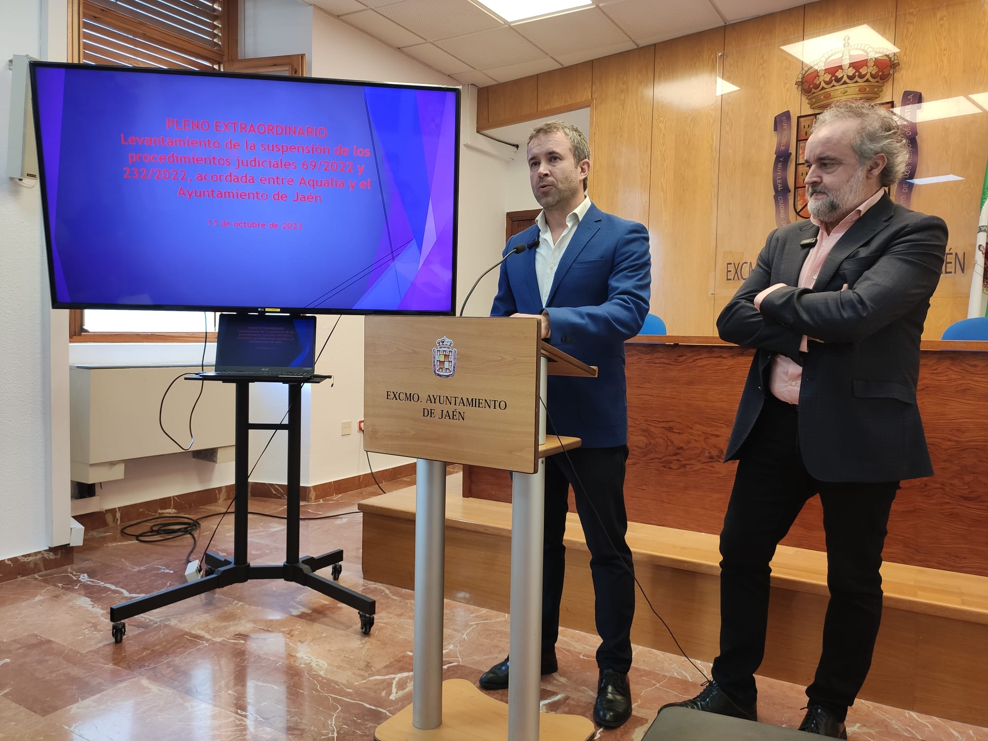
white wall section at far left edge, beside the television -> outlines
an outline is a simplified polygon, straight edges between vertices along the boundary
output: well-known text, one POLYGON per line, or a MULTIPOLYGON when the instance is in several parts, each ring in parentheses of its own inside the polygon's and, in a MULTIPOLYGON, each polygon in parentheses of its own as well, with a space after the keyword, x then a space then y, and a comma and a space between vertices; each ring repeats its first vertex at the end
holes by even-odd
MULTIPOLYGON (((65 3, 0 11, 0 166, 6 172, 14 54, 65 58, 65 3)), ((68 542, 68 318, 52 311, 38 188, 0 178, 0 558, 68 542)))

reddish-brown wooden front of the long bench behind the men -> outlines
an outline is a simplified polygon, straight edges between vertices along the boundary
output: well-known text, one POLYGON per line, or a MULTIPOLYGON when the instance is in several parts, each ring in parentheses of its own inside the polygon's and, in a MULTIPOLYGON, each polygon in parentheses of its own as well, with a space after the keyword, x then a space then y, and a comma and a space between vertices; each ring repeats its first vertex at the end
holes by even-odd
MULTIPOLYGON (((730 345, 628 343, 628 521, 717 535, 736 463, 723 463, 752 351, 730 345), (702 382, 697 379, 701 378, 702 382)), ((988 576, 988 353, 924 351, 917 389, 935 474, 905 481, 889 517, 886 561, 988 576)), ((511 501, 502 471, 471 467, 464 496, 511 501)), ((572 503, 570 510, 575 511, 572 503)), ((820 500, 785 545, 824 550, 820 500)))

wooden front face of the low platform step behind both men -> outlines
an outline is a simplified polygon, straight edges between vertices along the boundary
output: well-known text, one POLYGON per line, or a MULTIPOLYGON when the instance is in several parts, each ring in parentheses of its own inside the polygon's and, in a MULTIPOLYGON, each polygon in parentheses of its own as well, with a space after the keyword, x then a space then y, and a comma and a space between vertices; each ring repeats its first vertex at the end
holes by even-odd
MULTIPOLYGON (((362 503, 363 572, 369 581, 412 590, 414 490, 406 492, 397 501, 405 510, 411 507, 411 513, 389 513, 380 503, 362 503)), ((469 514, 465 505, 475 501, 483 502, 492 516, 510 518, 509 505, 455 496, 448 498, 448 512, 465 517, 469 514)), ((571 521, 568 534, 580 532, 576 521, 571 521)), ((701 540, 709 538, 716 540, 715 535, 704 535, 701 540)), ((566 544, 560 624, 593 634, 594 589, 588 553, 575 537, 568 537, 566 544)), ((702 557, 711 559, 709 554, 702 557)), ((700 564, 700 568, 687 566, 680 561, 670 567, 654 554, 634 554, 635 575, 654 608, 675 632, 679 645, 692 658, 711 661, 718 652, 719 572, 712 563, 700 564)), ((448 600, 507 613, 510 572, 509 528, 488 524, 484 529, 476 523, 467 528, 448 520, 444 585, 448 600)), ((812 574, 807 578, 818 579, 812 574)), ((922 581, 917 583, 927 589, 922 581)), ((825 586, 800 584, 797 579, 786 584, 778 573, 774 576, 769 640, 760 676, 802 686, 812 682, 827 602, 825 586)), ((988 674, 984 672, 988 624, 968 619, 970 609, 958 611, 948 606, 944 612, 959 617, 945 617, 932 614, 937 611, 928 608, 924 608, 926 613, 919 612, 919 608, 924 606, 911 600, 886 600, 871 671, 860 699, 988 727, 988 705, 984 702, 988 697, 988 674)), ((981 615, 983 611, 974 617, 981 615)), ((631 641, 678 654, 680 649, 663 620, 651 613, 645 600, 637 599, 631 641)), ((563 674, 564 663, 560 664, 563 674)))

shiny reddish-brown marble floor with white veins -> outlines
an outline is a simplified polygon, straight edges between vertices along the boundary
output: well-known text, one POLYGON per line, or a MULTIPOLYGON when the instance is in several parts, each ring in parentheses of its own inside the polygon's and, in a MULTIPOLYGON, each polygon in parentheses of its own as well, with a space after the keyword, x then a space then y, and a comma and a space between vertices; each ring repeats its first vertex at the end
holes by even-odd
MULTIPOLYGON (((303 505, 302 514, 354 512, 375 493, 303 505)), ((251 509, 282 514, 284 503, 255 499, 251 509)), ((252 562, 281 563, 282 521, 250 521, 252 562)), ((204 523, 206 534, 215 522, 204 523)), ((232 528, 227 517, 210 549, 231 552, 232 528)), ((108 609, 182 583, 189 546, 188 538, 146 544, 116 529, 87 532, 72 566, 0 584, 0 739, 363 741, 411 701, 412 593, 361 578, 360 515, 303 523, 301 552, 344 549, 341 584, 377 601, 370 636, 350 608, 296 584, 254 581, 131 618, 124 642, 115 644, 108 609)), ((445 628, 448 679, 475 681, 506 652, 502 613, 447 602, 445 628)), ((559 673, 542 682, 544 710, 590 717, 595 648, 595 636, 561 631, 559 673)), ((595 738, 637 741, 659 706, 692 697, 699 679, 682 657, 636 647, 634 714, 595 738)), ((798 724, 802 688, 768 679, 759 685, 762 719, 798 724)), ((506 692, 492 695, 507 700, 506 692)), ((856 741, 988 741, 986 728, 865 701, 848 720, 856 741)))

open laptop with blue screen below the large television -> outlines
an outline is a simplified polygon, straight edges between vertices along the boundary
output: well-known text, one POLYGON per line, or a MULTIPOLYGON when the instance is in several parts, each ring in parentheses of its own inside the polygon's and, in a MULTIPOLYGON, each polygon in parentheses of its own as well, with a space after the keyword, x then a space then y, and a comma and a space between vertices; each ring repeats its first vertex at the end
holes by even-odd
POLYGON ((220 314, 215 371, 203 378, 298 380, 315 372, 315 317, 220 314))

